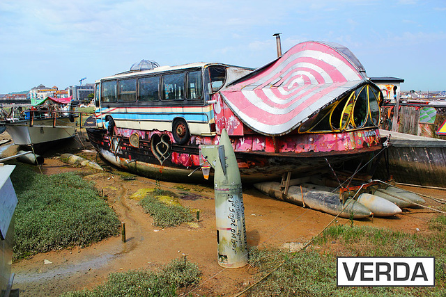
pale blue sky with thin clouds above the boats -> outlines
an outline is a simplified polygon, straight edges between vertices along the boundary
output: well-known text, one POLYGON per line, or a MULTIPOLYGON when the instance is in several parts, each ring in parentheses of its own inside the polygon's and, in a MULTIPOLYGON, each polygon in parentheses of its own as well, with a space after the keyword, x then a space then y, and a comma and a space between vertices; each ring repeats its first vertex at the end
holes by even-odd
POLYGON ((147 59, 261 67, 307 40, 350 49, 369 77, 446 90, 446 0, 1 0, 0 93, 93 83, 147 59))

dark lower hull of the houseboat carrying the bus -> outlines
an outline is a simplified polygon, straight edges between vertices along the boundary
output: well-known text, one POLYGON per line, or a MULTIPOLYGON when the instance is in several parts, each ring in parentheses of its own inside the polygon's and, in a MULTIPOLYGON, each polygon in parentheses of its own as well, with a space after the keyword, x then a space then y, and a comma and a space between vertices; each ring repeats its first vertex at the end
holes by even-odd
MULTIPOLYGON (((193 160, 201 160, 203 163, 199 145, 171 143, 169 154, 166 154, 168 157, 162 159, 150 142, 141 141, 139 147, 132 147, 128 138, 109 137, 105 129, 87 128, 86 131, 91 144, 114 166, 156 179, 180 182, 203 181, 199 170, 192 173, 194 169, 199 168, 199 164, 193 160)), ((291 172, 293 177, 321 175, 331 172, 330 166, 338 166, 341 163, 355 170, 358 162, 366 164, 380 149, 381 147, 376 145, 342 152, 236 151, 236 158, 243 182, 251 183, 281 179, 286 172, 291 172)))

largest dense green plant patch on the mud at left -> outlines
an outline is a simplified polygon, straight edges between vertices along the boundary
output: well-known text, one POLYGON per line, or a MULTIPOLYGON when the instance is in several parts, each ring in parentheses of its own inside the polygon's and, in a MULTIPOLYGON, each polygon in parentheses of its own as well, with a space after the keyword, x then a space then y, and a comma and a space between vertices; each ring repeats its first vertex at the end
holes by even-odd
POLYGON ((15 210, 14 259, 89 244, 118 234, 119 220, 91 183, 75 173, 40 175, 17 164, 11 175, 15 210))

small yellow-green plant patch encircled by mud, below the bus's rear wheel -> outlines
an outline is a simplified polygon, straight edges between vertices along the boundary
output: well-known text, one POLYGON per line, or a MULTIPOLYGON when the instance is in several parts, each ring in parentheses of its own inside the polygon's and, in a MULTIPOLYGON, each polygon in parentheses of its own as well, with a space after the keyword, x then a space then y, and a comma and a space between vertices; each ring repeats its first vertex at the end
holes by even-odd
POLYGON ((192 222, 194 216, 190 210, 177 203, 167 203, 166 198, 176 198, 171 191, 155 188, 153 193, 148 193, 139 204, 153 218, 153 224, 159 227, 174 227, 181 223, 192 222))

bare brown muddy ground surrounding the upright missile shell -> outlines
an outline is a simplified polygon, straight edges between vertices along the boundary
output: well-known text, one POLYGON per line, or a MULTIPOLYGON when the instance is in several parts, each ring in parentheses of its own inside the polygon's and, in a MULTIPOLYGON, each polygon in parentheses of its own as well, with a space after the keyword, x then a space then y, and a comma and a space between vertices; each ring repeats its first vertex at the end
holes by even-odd
MULTIPOLYGON (((85 179, 93 181, 98 189, 104 191, 110 207, 125 223, 127 241, 123 243, 121 236, 116 236, 86 248, 75 247, 47 252, 14 263, 13 288, 20 289, 21 296, 58 296, 66 291, 91 289, 105 282, 109 273, 137 268, 156 269, 171 259, 183 257, 183 254, 187 255, 190 261, 197 263, 202 272, 200 286, 186 290, 186 293, 192 296, 231 296, 252 283, 255 273, 252 268, 246 266, 224 269, 217 264, 212 185, 160 182, 163 189, 183 196, 180 200, 183 206, 201 210, 197 226, 181 225, 160 229, 153 225, 153 220, 139 206, 138 201, 130 199, 130 195, 140 188, 155 188, 155 180, 137 176, 125 180, 119 170, 107 166, 99 157, 98 163, 107 167, 106 172, 75 168, 60 161, 58 155, 64 152, 95 159, 94 150, 84 140, 85 136, 81 136, 53 147, 43 154, 45 163, 41 170, 45 175, 83 171, 85 179), (83 144, 79 140, 82 140, 83 144)), ((1 154, 14 154, 16 150, 15 145, 3 145, 1 154)), ((435 198, 446 196, 446 191, 406 188, 435 198)), ((281 247, 285 243, 306 243, 334 218, 329 214, 274 200, 259 193, 252 186, 244 186, 243 200, 249 246, 281 247)), ((426 204, 434 207, 440 205, 429 199, 426 199, 426 204)), ((404 209, 402 214, 392 218, 355 220, 354 225, 426 232, 427 223, 437 215, 428 209, 404 209)), ((348 219, 337 219, 337 224, 350 223, 348 219)))

